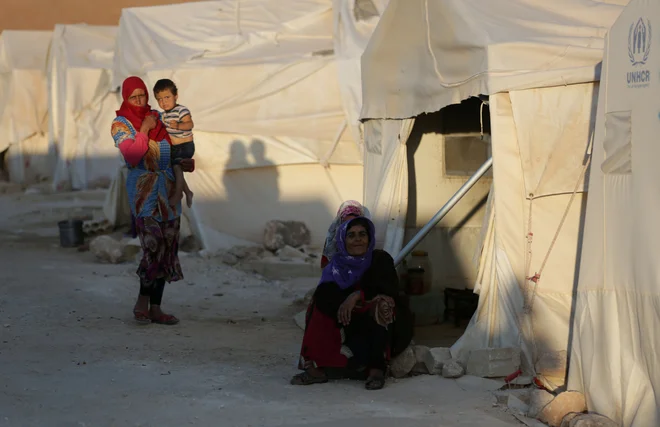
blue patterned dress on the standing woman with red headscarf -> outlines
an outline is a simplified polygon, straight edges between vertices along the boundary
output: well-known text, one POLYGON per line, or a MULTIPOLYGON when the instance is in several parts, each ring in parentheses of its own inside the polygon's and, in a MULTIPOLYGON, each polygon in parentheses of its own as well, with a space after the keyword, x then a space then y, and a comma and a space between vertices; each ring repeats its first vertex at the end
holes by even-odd
MULTIPOLYGON (((112 138, 116 147, 125 140, 135 139, 136 134, 126 118, 113 120, 112 138)), ((138 165, 134 167, 127 162, 126 166, 128 203, 143 252, 137 274, 144 286, 153 286, 159 280, 181 280, 183 273, 178 258, 181 203, 172 209, 168 202, 174 190, 170 144, 166 140, 149 140, 149 149, 138 165)))

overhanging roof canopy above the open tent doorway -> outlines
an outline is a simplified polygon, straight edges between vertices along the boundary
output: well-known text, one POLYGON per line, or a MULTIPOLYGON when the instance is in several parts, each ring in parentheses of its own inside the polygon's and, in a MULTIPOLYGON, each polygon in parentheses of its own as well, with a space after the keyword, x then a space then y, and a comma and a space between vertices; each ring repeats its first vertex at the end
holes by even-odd
POLYGON ((361 118, 598 80, 603 37, 627 2, 391 0, 362 57, 361 118))

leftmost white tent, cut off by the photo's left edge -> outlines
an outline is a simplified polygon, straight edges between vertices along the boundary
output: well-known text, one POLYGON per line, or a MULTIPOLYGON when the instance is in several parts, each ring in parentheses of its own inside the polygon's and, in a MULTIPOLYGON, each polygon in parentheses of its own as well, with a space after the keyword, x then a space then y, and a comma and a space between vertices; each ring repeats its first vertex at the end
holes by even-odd
POLYGON ((50 31, 0 34, 0 153, 12 182, 52 176, 48 152, 46 57, 50 31))

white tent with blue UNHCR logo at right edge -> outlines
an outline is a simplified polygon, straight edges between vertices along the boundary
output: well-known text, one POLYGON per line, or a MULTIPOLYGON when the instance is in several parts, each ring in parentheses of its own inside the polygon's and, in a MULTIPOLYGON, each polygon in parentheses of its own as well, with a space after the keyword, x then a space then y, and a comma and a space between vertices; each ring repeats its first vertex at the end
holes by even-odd
POLYGON ((568 386, 623 427, 660 425, 660 4, 606 37, 568 386))

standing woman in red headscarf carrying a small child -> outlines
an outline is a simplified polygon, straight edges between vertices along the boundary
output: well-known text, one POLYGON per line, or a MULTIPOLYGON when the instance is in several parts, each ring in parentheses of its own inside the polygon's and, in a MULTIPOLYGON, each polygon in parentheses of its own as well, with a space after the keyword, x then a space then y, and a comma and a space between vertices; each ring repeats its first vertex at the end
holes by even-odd
POLYGON ((169 136, 148 104, 142 79, 124 80, 121 94, 124 102, 112 122, 112 138, 128 167, 126 191, 143 253, 133 315, 138 323, 175 325, 179 319, 161 310, 165 282, 183 279, 178 257, 181 203, 175 209, 168 203, 174 190, 169 136))

